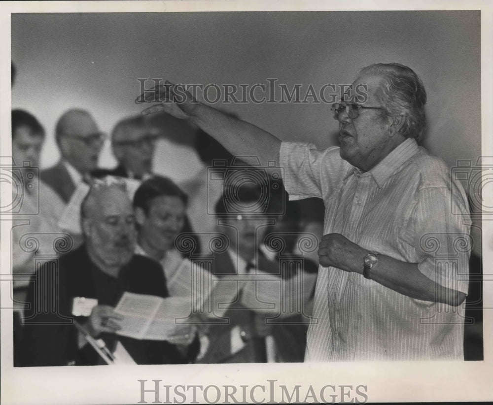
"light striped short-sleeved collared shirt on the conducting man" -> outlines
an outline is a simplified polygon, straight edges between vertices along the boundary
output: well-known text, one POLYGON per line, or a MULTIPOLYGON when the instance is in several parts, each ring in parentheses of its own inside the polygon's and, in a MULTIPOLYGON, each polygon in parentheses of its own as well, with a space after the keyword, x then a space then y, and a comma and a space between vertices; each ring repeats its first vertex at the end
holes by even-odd
MULTIPOLYGON (((281 165, 291 199, 323 199, 324 234, 418 263, 428 278, 467 294, 466 195, 414 139, 366 173, 342 160, 339 148, 319 151, 310 143, 283 142, 281 165)), ((320 267, 305 361, 463 360, 463 312, 320 267)))

